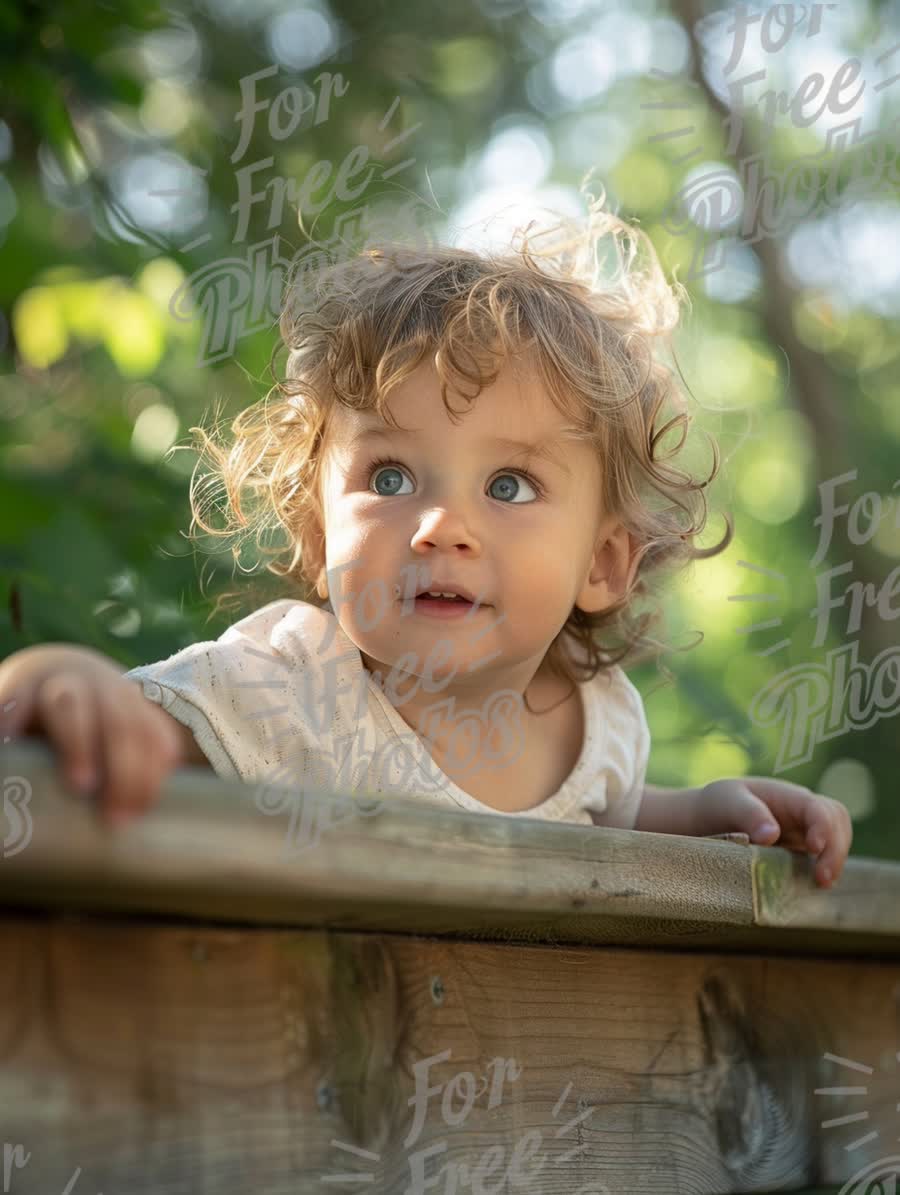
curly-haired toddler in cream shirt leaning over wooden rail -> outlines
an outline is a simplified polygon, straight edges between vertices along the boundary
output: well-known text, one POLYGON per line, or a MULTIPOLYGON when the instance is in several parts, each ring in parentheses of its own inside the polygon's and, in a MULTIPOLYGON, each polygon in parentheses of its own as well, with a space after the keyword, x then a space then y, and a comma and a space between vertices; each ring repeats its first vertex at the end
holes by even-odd
POLYGON ((818 883, 835 882, 851 841, 839 802, 763 777, 645 783, 650 736, 623 664, 649 654, 659 615, 636 601, 733 529, 694 544, 718 458, 714 443, 705 479, 685 461, 690 417, 654 356, 684 288, 600 208, 544 253, 527 231, 504 255, 385 243, 308 295, 290 286, 275 402, 241 412, 228 446, 196 429, 228 525, 204 521, 194 484, 191 503, 210 534, 286 533, 289 559, 268 569, 298 596, 124 675, 82 648, 16 652, 0 664, 6 731, 49 737, 112 820, 195 764, 275 789, 742 831, 809 852, 818 883), (598 232, 618 288, 598 281, 598 232))

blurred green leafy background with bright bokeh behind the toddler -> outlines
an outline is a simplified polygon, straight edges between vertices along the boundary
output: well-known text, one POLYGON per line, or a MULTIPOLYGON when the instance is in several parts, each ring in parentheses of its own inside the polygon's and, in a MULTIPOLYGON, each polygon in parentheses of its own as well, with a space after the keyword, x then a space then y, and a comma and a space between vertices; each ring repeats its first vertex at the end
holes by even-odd
POLYGON ((539 204, 583 215, 593 171, 690 293, 704 543, 736 523, 672 594, 675 685, 631 673, 648 778, 778 774, 900 857, 900 13, 745 12, 0 0, 0 657, 130 668, 259 605, 213 614, 261 557, 186 538, 190 428, 273 384, 298 206, 332 245, 416 210, 502 241, 539 204))

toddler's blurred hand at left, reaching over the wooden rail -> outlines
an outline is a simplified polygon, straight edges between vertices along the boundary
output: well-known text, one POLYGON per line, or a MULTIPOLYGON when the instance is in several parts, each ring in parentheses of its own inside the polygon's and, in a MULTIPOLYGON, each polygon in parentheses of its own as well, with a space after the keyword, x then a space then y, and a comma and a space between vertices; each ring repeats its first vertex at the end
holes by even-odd
POLYGON ((185 759, 185 735, 98 651, 39 644, 0 662, 0 728, 49 740, 67 784, 110 822, 143 813, 185 759))

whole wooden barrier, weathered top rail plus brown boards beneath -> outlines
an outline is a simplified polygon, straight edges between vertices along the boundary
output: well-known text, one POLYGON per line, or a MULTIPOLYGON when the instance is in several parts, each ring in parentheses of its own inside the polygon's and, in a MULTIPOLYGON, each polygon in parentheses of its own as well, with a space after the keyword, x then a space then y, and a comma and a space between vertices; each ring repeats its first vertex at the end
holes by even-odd
POLYGON ((0 778, 0 1190, 708 1195, 900 1164, 898 864, 822 890, 778 847, 206 770, 110 829, 33 740, 0 778))

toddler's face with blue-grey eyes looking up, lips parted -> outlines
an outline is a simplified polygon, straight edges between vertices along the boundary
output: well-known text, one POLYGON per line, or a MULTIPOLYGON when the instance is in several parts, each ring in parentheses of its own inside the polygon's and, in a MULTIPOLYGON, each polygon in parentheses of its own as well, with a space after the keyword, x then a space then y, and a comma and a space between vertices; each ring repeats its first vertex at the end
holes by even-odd
MULTIPOLYGON (((448 397, 464 412, 455 423, 425 361, 388 400, 411 430, 374 411, 336 411, 323 470, 331 605, 369 667, 422 676, 431 655, 428 675, 461 679, 479 660, 495 675, 537 666, 575 605, 596 611, 614 598, 604 543, 618 525, 600 509, 600 466, 589 443, 565 437, 541 386, 518 382, 508 363, 471 409, 448 397), (526 459, 504 440, 546 442, 553 456, 526 459), (415 600, 454 586, 479 599, 469 617, 415 600)), ((626 549, 627 537, 614 543, 626 549)))

